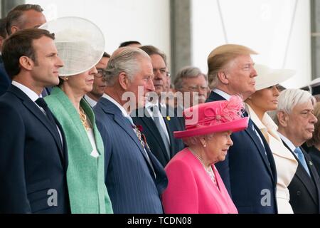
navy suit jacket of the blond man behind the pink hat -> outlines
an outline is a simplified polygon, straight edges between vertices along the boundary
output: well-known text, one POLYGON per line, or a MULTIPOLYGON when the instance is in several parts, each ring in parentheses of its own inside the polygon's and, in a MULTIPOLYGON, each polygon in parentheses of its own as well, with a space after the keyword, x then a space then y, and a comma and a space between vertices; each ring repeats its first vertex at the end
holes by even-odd
MULTIPOLYGON (((216 100, 225 99, 211 92, 207 102, 216 100)), ((215 166, 238 212, 277 213, 276 167, 270 147, 259 128, 249 120, 248 128, 233 133, 231 139, 233 146, 230 147, 228 155, 223 162, 218 162, 215 166), (252 127, 262 138, 263 146, 252 127)))

